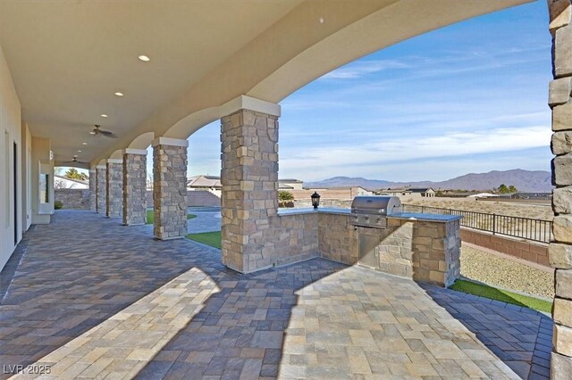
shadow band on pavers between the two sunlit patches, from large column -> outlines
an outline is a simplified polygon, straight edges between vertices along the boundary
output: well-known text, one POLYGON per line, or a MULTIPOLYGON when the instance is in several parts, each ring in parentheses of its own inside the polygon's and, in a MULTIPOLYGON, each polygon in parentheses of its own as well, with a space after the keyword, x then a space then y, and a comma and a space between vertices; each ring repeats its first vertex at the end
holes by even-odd
MULTIPOLYGON (((344 268, 348 267, 321 259, 249 275, 224 268, 216 277, 220 291, 138 378, 278 376, 284 339, 306 335, 304 329, 289 327, 291 310, 299 303, 296 292, 344 268)), ((300 365, 311 364, 302 361, 300 365)))

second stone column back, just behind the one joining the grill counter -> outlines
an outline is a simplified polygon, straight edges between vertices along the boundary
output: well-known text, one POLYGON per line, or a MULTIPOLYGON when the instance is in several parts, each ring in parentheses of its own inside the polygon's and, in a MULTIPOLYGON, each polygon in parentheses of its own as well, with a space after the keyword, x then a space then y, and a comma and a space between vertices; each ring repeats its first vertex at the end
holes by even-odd
POLYGON ((189 141, 153 141, 153 234, 168 240, 187 235, 187 147, 189 141))

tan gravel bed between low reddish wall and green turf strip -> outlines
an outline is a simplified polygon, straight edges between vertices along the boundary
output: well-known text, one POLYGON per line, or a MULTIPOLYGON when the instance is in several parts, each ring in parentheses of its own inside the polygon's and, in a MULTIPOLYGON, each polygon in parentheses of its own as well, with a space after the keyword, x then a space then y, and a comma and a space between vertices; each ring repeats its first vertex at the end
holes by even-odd
POLYGON ((467 245, 461 248, 461 276, 543 298, 554 297, 553 272, 529 267, 467 245))

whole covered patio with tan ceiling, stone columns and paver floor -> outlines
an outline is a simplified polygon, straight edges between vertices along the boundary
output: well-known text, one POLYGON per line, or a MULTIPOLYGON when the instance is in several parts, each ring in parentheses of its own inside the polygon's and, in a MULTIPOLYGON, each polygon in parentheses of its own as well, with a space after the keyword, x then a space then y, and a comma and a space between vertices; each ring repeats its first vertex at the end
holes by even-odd
POLYGON ((528 1, 1 2, 2 376, 36 363, 68 378, 568 378, 570 0, 548 2, 553 342, 548 317, 420 285, 456 278, 458 220, 388 217, 375 236, 391 235, 388 273, 415 282, 344 265, 357 263, 348 212, 278 211, 286 96, 528 1), (220 252, 185 239, 188 138, 214 120, 220 252), (91 211, 55 211, 66 162, 89 170, 91 211))

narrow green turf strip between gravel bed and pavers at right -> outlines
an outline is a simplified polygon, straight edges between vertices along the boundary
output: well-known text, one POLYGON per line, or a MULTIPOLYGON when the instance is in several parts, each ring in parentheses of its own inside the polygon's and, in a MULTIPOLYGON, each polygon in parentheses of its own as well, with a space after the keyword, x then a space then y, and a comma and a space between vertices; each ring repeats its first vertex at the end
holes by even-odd
POLYGON ((549 313, 552 310, 552 302, 528 297, 523 294, 508 292, 488 285, 475 284, 470 281, 457 280, 455 281, 455 284, 450 285, 450 289, 457 290, 458 292, 475 294, 492 300, 512 303, 513 305, 525 306, 526 308, 534 310, 546 311, 549 313))

